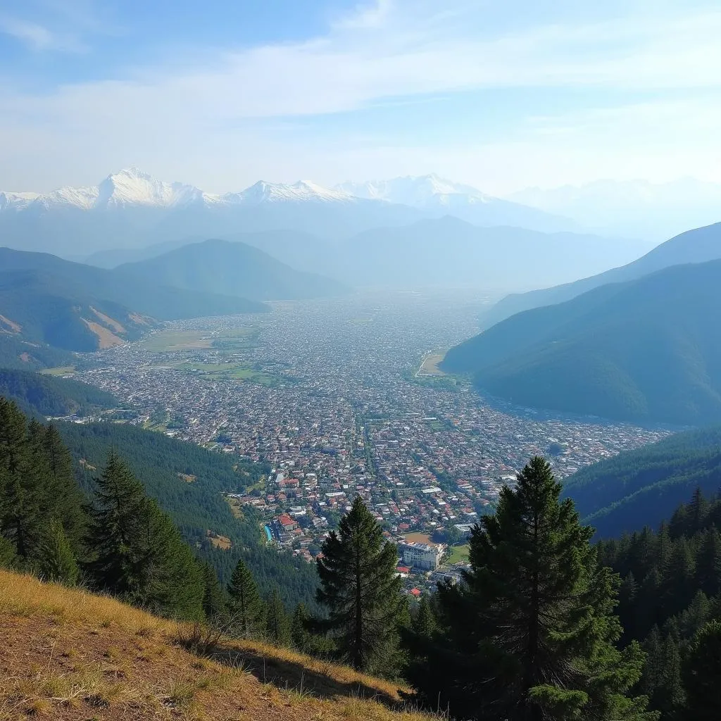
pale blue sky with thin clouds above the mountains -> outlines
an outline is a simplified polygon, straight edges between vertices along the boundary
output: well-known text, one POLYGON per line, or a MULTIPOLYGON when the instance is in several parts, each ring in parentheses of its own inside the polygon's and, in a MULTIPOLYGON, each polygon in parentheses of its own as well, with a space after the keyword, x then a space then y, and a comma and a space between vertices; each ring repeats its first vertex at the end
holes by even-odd
POLYGON ((0 189, 721 182, 717 0, 0 1, 0 189))

